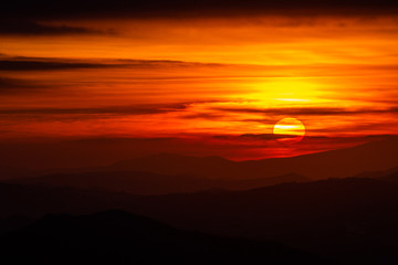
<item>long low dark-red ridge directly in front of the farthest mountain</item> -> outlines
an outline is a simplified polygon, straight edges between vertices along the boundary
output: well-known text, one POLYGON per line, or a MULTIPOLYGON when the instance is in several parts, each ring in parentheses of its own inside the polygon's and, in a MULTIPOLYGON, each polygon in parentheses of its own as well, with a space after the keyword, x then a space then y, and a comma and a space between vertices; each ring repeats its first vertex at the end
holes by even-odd
POLYGON ((286 182, 304 182, 300 174, 285 174, 263 179, 203 179, 190 176, 161 176, 148 172, 114 171, 59 173, 43 177, 11 179, 7 182, 48 187, 70 187, 134 194, 167 194, 203 190, 245 190, 286 182))

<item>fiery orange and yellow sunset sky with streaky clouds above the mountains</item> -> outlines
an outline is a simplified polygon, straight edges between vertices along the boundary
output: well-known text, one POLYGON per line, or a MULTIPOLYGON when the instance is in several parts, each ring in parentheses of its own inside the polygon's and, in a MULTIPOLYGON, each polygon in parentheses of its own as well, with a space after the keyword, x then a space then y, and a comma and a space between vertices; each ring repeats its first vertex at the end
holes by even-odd
POLYGON ((2 142, 160 139, 244 160, 398 134, 397 3, 20 4, 0 11, 2 142), (283 118, 301 141, 277 140, 283 118))

